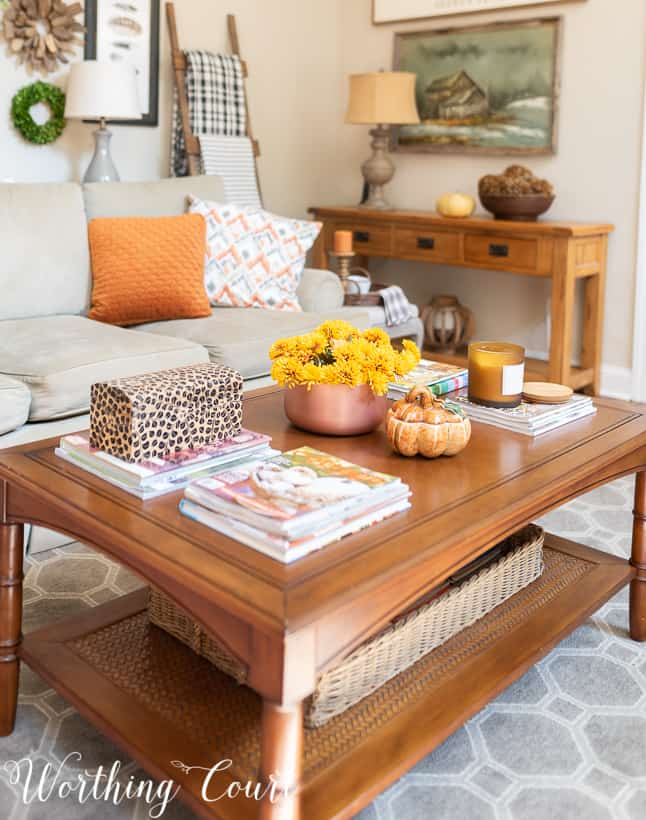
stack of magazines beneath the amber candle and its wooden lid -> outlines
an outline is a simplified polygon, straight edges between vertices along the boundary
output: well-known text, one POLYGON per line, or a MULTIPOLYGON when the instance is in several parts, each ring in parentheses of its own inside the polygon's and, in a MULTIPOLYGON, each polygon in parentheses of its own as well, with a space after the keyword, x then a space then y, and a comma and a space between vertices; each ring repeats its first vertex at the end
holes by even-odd
POLYGON ((448 406, 451 404, 465 410, 473 421, 513 430, 526 436, 540 436, 577 419, 593 416, 597 412, 592 399, 578 393, 563 404, 534 404, 523 401, 518 407, 498 409, 475 404, 469 401, 466 391, 461 391, 447 401, 448 406))

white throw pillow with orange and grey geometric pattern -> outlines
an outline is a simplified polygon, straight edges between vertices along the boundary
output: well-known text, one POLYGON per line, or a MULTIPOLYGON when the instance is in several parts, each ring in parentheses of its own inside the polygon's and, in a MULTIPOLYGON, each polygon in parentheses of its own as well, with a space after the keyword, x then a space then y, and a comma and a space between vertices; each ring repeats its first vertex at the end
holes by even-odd
POLYGON ((206 219, 204 284, 212 305, 301 310, 296 289, 320 222, 194 196, 189 211, 206 219))

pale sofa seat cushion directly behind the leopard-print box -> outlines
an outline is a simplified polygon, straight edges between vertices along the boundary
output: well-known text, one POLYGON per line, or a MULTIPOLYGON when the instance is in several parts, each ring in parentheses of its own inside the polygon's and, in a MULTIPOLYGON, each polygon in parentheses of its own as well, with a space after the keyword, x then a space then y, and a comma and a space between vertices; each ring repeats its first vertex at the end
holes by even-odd
POLYGON ((85 412, 94 382, 208 360, 206 350, 193 342, 82 316, 0 322, 0 373, 29 387, 30 421, 85 412))

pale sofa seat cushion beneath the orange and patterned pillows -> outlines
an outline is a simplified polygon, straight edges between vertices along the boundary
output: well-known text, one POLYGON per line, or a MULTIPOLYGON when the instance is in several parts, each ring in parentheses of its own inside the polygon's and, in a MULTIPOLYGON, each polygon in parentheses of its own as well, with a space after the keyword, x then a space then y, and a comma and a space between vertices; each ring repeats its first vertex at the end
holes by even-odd
POLYGON ((368 314, 360 308, 322 314, 222 307, 214 308, 208 319, 153 322, 137 330, 190 339, 209 351, 212 362, 235 368, 245 379, 255 379, 269 374, 269 348, 276 339, 309 333, 326 319, 341 318, 361 330, 370 327, 368 314))

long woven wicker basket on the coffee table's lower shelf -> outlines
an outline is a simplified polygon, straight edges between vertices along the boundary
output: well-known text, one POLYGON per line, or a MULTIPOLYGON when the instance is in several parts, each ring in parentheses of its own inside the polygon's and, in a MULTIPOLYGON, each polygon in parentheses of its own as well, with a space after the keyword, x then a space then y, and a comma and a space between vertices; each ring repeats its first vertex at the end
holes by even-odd
MULTIPOLYGON (((322 726, 535 581, 543 572, 543 541, 540 527, 525 527, 503 542, 501 558, 392 623, 321 675, 308 703, 306 725, 322 726)), ((152 623, 238 683, 246 681, 244 664, 154 588, 149 614, 152 623)))

